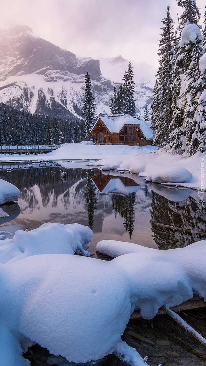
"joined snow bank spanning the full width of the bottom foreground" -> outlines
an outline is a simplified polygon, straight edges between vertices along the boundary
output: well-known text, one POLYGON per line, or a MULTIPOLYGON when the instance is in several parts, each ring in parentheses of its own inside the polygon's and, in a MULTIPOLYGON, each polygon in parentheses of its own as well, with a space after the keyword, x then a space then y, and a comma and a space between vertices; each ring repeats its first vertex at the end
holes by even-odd
POLYGON ((111 262, 40 254, 1 264, 5 364, 29 365, 20 358, 20 341, 34 341, 76 363, 116 352, 126 362, 144 365, 136 350, 121 341, 130 314, 136 307, 150 319, 162 305, 179 305, 193 293, 206 299, 206 240, 162 251, 128 244, 98 244, 99 249, 113 248, 115 255, 118 246, 119 254, 131 251, 111 262))

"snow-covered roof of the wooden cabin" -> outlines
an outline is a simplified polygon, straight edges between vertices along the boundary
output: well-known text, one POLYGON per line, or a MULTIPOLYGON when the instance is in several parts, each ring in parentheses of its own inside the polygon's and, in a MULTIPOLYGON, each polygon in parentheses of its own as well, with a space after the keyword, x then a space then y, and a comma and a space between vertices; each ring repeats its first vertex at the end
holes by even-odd
MULTIPOLYGON (((154 138, 154 134, 152 129, 149 127, 151 122, 142 121, 138 118, 131 117, 127 113, 119 114, 119 115, 111 115, 107 117, 100 116, 93 126, 93 128, 97 125, 99 119, 105 124, 110 132, 119 133, 125 124, 136 124, 140 126, 142 133, 145 135, 146 140, 150 140, 154 138)), ((91 129, 91 131, 93 130, 91 129)), ((90 132, 91 132, 90 131, 90 132)))

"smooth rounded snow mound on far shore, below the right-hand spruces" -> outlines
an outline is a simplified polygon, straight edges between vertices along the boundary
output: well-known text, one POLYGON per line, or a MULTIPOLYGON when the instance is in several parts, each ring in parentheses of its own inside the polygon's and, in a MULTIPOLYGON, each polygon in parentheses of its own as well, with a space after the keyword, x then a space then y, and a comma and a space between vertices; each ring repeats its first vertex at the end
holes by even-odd
POLYGON ((192 174, 183 167, 161 167, 156 171, 151 171, 145 182, 153 182, 153 183, 184 183, 190 182, 192 179, 192 174))

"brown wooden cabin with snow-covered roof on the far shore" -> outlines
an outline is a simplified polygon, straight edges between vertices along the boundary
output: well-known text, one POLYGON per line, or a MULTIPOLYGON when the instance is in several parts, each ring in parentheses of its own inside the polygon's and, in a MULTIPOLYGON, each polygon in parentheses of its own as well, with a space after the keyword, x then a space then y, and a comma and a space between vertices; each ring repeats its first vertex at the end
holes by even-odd
POLYGON ((128 114, 99 115, 90 134, 97 145, 151 145, 154 139, 151 122, 142 121, 128 114))

